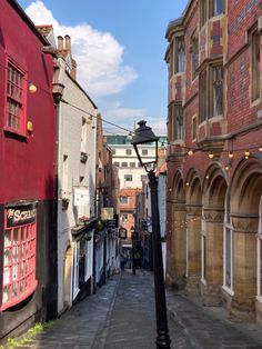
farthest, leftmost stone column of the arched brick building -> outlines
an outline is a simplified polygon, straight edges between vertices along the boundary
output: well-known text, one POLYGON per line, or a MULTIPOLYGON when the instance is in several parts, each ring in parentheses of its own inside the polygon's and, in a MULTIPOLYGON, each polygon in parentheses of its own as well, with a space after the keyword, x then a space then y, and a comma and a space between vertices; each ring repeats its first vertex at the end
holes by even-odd
POLYGON ((172 250, 174 252, 174 286, 183 289, 187 272, 187 211, 184 202, 173 206, 174 235, 172 250))

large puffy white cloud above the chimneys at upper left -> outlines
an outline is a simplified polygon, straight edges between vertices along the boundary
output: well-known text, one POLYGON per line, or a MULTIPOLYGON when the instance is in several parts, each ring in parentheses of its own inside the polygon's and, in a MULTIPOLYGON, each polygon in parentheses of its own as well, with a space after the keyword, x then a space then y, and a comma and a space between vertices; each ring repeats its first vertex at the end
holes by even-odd
POLYGON ((123 63, 124 48, 111 33, 87 23, 62 26, 40 0, 32 2, 26 12, 34 24, 52 24, 54 36, 71 37, 77 79, 91 98, 119 93, 138 78, 134 69, 123 63))

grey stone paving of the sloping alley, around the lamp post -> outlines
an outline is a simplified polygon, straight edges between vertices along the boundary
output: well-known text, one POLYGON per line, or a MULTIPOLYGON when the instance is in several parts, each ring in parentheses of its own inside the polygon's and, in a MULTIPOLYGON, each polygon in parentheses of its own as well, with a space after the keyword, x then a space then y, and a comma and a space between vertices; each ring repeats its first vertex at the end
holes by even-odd
MULTIPOLYGON (((262 328, 232 323, 222 308, 172 289, 167 308, 171 348, 262 349, 262 328)), ((153 349, 155 337, 153 275, 125 269, 20 349, 153 349)))

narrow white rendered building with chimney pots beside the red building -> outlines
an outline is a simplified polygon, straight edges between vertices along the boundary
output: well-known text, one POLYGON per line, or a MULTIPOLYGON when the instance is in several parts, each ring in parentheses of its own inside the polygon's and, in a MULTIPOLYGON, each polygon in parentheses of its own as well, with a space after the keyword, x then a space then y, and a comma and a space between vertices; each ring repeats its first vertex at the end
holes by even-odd
POLYGON ((70 38, 66 36, 66 49, 62 38, 59 39, 61 54, 57 59, 53 90, 58 96, 58 312, 61 313, 82 291, 92 290, 98 111, 72 76, 70 38))

